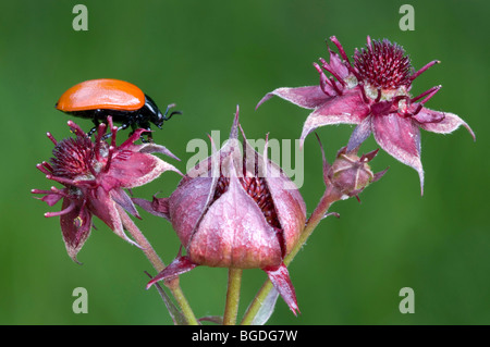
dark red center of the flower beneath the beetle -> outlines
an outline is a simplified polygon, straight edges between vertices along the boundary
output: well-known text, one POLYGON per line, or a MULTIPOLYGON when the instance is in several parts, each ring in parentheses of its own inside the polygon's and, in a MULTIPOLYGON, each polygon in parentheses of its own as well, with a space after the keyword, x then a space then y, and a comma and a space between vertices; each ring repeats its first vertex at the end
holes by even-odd
POLYGON ((52 174, 74 179, 91 173, 93 142, 88 137, 66 138, 52 150, 52 174))

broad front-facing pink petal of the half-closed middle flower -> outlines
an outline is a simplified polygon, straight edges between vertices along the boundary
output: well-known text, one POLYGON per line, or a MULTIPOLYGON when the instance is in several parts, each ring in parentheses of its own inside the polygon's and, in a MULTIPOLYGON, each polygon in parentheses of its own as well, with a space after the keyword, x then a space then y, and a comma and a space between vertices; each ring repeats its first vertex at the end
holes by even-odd
POLYGON ((194 262, 208 267, 247 269, 278 264, 282 255, 275 231, 243 189, 233 157, 228 159, 229 189, 208 208, 187 252, 194 262), (222 233, 223 225, 233 233, 222 233))

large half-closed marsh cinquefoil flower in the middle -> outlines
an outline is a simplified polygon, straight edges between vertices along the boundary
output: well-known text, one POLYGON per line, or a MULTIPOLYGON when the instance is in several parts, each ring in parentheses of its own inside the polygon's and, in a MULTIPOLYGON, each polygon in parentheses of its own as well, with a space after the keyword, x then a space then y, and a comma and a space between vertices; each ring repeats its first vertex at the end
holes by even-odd
POLYGON ((170 198, 135 199, 149 212, 167 218, 186 250, 148 286, 197 265, 259 268, 296 313, 283 259, 305 226, 305 202, 293 182, 267 159, 267 142, 264 156, 245 138, 240 145, 238 126, 236 111, 230 139, 187 172, 170 198))

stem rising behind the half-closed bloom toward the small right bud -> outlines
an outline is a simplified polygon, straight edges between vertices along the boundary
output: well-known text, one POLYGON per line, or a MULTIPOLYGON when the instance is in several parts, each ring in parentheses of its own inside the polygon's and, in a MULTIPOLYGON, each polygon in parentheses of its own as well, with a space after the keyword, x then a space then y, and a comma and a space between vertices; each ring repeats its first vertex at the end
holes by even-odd
MULTIPOLYGON (((329 210, 330 206, 339 201, 342 198, 342 194, 339 193, 335 188, 332 186, 327 187, 327 190, 324 191, 323 196, 321 197, 320 202, 318 202, 318 206, 315 208, 315 211, 311 213, 310 218, 308 219, 305 228, 303 230, 298 241, 294 246, 294 248, 291 250, 291 252, 287 255, 287 257, 284 258, 284 264, 287 267, 293 260, 294 257, 296 257, 299 249, 302 249, 303 245, 305 245, 308 237, 311 235, 311 233, 315 231, 315 228, 318 226, 320 221, 324 218, 327 211, 329 210)), ((250 306, 248 307, 247 311, 245 312, 242 325, 250 325, 254 321, 254 318, 257 315, 260 307, 262 306, 264 300, 267 298, 267 295, 272 289, 272 283, 267 280, 257 295, 255 296, 254 300, 252 301, 250 306)))

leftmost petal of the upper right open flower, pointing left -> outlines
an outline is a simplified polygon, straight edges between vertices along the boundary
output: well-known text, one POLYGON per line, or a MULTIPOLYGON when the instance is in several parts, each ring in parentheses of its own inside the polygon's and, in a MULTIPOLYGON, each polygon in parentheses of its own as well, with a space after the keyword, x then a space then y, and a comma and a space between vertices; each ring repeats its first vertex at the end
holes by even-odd
POLYGON ((278 88, 266 94, 259 103, 257 103, 256 109, 273 96, 278 96, 305 109, 316 109, 331 99, 331 97, 327 96, 319 86, 278 88))

